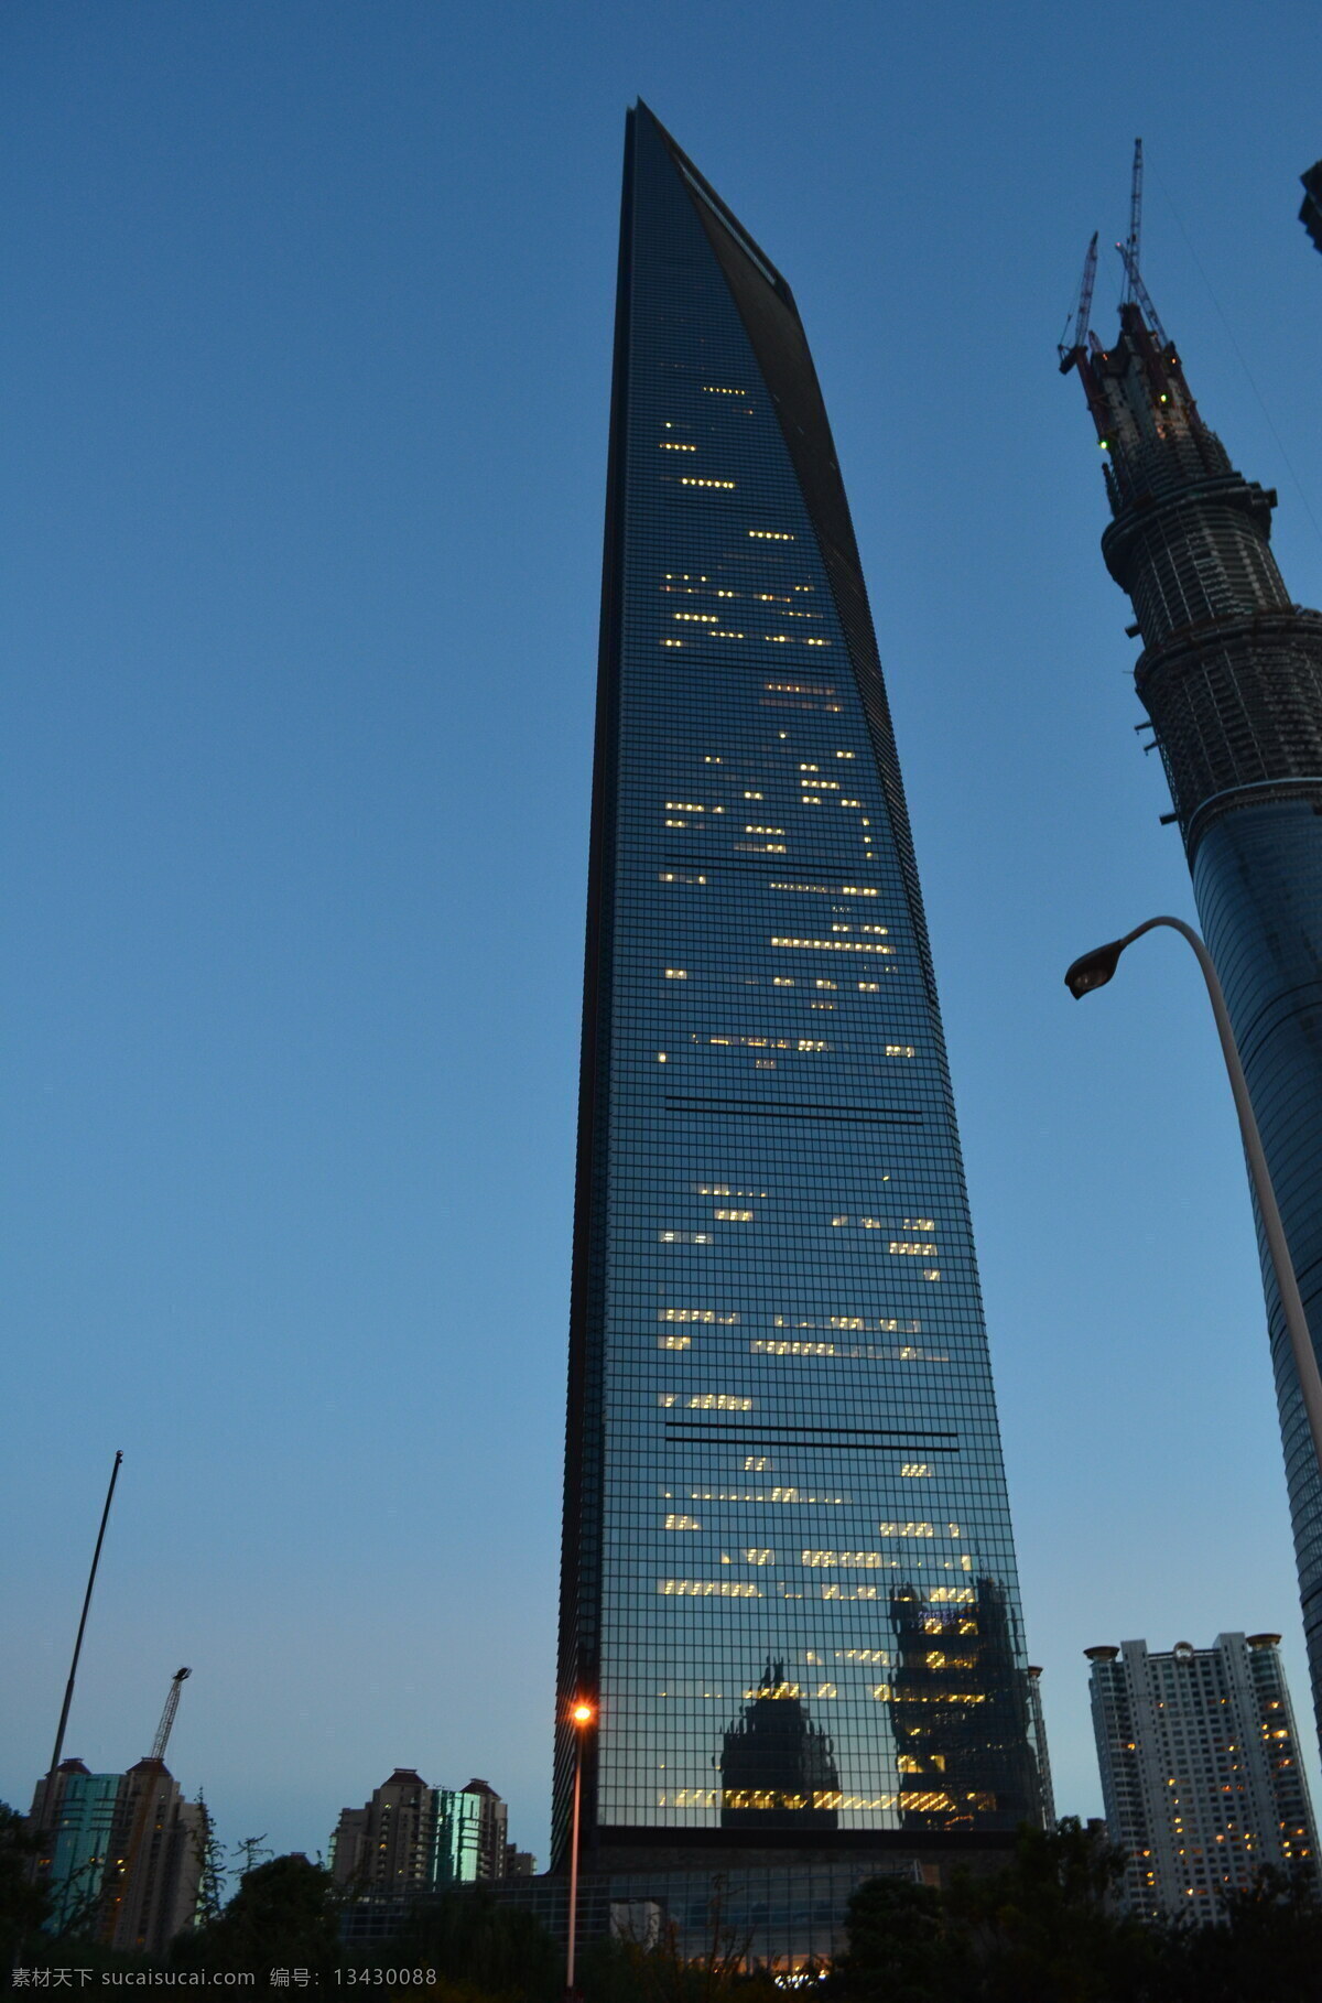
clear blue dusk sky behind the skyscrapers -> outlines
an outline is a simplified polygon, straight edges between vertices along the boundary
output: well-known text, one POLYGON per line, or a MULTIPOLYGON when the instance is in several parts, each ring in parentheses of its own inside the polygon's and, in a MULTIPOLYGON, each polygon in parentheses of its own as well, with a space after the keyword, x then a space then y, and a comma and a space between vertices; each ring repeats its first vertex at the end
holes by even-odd
POLYGON ((1148 282, 1322 603, 1316 6, 10 0, 0 52, 0 1795, 122 1446, 68 1753, 140 1757, 190 1662, 170 1765, 228 1843, 316 1851, 399 1763, 545 1859, 635 94, 789 274, 835 427, 1060 1807, 1100 1811, 1094 1640, 1280 1628, 1308 1715, 1196 969, 1062 987, 1192 899, 1054 343, 1142 132, 1148 282))

